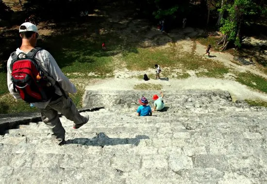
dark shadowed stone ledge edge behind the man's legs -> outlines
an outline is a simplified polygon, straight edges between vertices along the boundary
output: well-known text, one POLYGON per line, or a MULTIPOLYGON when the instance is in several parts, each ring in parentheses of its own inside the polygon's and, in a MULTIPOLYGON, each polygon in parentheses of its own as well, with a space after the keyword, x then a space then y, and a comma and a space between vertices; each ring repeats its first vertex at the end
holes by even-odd
MULTIPOLYGON (((94 107, 94 108, 80 108, 79 112, 90 112, 96 111, 104 107, 94 107)), ((59 117, 62 116, 61 113, 58 114, 59 117)), ((27 123, 37 123, 41 122, 40 112, 30 112, 30 113, 17 113, 17 114, 0 114, 0 135, 3 135, 5 130, 14 129, 20 124, 27 123)))

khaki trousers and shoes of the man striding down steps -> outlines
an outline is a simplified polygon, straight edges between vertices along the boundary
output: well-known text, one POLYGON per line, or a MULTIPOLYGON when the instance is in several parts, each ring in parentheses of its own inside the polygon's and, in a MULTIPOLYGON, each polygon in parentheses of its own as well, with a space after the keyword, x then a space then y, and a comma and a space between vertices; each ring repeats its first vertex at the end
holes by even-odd
POLYGON ((73 121, 75 124, 84 123, 85 121, 72 100, 69 97, 66 99, 65 96, 50 101, 48 106, 40 108, 40 111, 43 122, 53 132, 52 139, 57 144, 64 140, 66 132, 59 120, 58 112, 61 112, 68 120, 73 121))

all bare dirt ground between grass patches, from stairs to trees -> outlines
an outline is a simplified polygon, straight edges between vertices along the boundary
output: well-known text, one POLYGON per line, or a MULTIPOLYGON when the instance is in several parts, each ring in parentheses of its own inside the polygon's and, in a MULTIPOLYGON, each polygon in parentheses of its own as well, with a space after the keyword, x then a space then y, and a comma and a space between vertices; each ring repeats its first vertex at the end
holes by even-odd
MULTIPOLYGON (((203 33, 201 29, 195 29, 187 27, 185 29, 176 29, 171 30, 168 33, 162 33, 156 28, 150 27, 150 23, 147 20, 134 20, 129 19, 125 16, 125 12, 116 12, 116 13, 107 13, 96 11, 96 14, 90 16, 108 16, 107 21, 113 21, 113 27, 109 31, 117 31, 118 34, 121 34, 121 37, 124 35, 129 35, 133 31, 142 32, 143 46, 155 46, 155 37, 157 37, 157 42, 159 43, 158 47, 167 47, 173 43, 173 40, 176 41, 176 46, 179 47, 182 51, 192 51, 195 55, 200 57, 207 58, 207 56, 202 56, 205 53, 206 46, 201 45, 200 43, 194 44, 192 38, 194 36, 200 35, 203 33), (164 36, 158 36, 164 35, 164 36), (145 39, 144 39, 145 37, 145 39)), ((108 25, 107 22, 101 22, 98 27, 100 31, 105 31, 105 26, 108 25)), ((38 25, 41 35, 51 35, 54 30, 49 30, 48 26, 45 23, 40 23, 38 25)), ((215 32, 215 35, 218 33, 215 32)), ((129 37, 127 38, 129 39, 129 37)), ((138 39, 138 37, 132 36, 131 39, 138 39)), ((257 40, 252 39, 253 42, 257 40)), ((125 40, 127 42, 127 40, 125 40)), ((259 40, 258 42, 262 42, 259 40)), ((114 61, 117 63, 123 63, 120 61, 120 53, 113 57, 114 61)), ((157 80, 151 78, 149 81, 144 81, 141 79, 136 79, 136 76, 143 74, 153 74, 155 73, 154 69, 148 69, 145 71, 129 71, 125 68, 123 64, 118 67, 113 75, 114 78, 108 79, 94 79, 87 82, 87 86, 83 86, 85 90, 134 90, 134 85, 140 83, 151 83, 151 84, 161 84, 163 86, 162 91, 179 91, 179 90, 226 90, 229 91, 232 95, 233 100, 244 100, 244 99, 260 99, 267 101, 267 94, 262 92, 256 92, 245 85, 242 85, 235 81, 234 73, 231 71, 237 72, 250 72, 258 76, 264 77, 267 79, 267 75, 259 69, 257 64, 243 65, 234 61, 234 56, 228 52, 215 52, 211 50, 211 56, 209 59, 211 61, 219 61, 223 63, 226 67, 230 68, 230 73, 224 76, 222 79, 217 78, 207 78, 207 77, 197 77, 196 72, 198 71, 186 71, 189 74, 189 78, 186 79, 177 79, 170 76, 175 76, 177 70, 172 68, 165 68, 172 72, 170 76, 161 76, 161 79, 157 80)), ((116 63, 115 62, 115 63, 116 63)), ((94 73, 88 73, 88 76, 95 76, 94 73)), ((73 82, 78 83, 77 79, 72 79, 73 82)), ((84 82, 83 82, 84 84, 84 82)))

